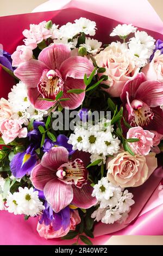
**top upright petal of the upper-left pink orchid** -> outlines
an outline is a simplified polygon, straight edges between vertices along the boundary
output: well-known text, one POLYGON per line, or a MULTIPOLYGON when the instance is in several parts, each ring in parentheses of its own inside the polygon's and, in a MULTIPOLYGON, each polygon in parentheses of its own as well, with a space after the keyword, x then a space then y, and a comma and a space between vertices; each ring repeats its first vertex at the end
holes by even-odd
POLYGON ((64 44, 53 44, 44 48, 38 59, 45 63, 48 69, 59 69, 64 60, 71 56, 70 48, 64 44))

